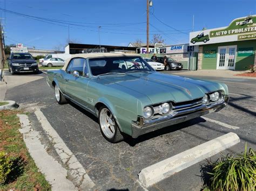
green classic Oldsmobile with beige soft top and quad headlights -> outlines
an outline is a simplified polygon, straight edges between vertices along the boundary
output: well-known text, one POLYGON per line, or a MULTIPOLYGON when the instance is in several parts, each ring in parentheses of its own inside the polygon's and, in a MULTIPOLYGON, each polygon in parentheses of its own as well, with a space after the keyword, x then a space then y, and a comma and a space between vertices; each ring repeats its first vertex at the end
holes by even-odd
POLYGON ((46 79, 59 104, 70 100, 97 116, 111 143, 219 111, 229 98, 224 83, 161 74, 137 54, 74 54, 46 79))

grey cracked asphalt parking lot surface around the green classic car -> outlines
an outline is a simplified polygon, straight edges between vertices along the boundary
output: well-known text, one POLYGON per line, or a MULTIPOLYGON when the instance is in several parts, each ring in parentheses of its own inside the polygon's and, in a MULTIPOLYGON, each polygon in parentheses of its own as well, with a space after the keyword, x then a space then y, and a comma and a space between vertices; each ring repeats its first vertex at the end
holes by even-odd
MULTIPOLYGON (((5 75, 10 74, 5 71, 5 75)), ((137 139, 127 138, 124 142, 111 144, 101 135, 97 118, 75 104, 59 105, 56 102, 53 89, 46 84, 44 73, 15 75, 17 78, 21 76, 42 78, 8 89, 5 100, 15 100, 23 108, 41 108, 53 129, 76 155, 98 190, 143 190, 137 176, 141 169, 228 132, 237 133, 241 142, 224 154, 244 151, 246 142, 248 147, 256 148, 255 80, 201 77, 225 82, 231 96, 226 108, 205 117, 237 126, 239 129, 230 129, 199 117, 137 139)), ((32 112, 29 117, 31 121, 36 120, 32 112)), ((214 155, 212 160, 219 156, 220 154, 214 155)), ((200 190, 203 185, 201 167, 205 163, 206 161, 201 161, 147 189, 200 190)))

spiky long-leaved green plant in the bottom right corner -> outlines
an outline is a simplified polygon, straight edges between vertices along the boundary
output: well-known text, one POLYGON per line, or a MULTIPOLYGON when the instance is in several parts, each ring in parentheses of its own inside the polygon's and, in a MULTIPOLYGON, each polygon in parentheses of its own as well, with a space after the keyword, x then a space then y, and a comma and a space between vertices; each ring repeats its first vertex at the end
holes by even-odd
POLYGON ((228 154, 212 165, 210 184, 204 190, 256 190, 256 155, 252 148, 234 157, 228 154))

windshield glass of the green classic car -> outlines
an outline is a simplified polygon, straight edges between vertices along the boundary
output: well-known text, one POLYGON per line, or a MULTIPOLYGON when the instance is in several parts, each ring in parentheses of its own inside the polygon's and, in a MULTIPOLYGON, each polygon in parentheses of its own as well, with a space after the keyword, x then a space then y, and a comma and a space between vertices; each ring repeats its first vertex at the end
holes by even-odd
POLYGON ((89 66, 93 76, 154 71, 147 62, 138 56, 92 58, 89 59, 89 66))

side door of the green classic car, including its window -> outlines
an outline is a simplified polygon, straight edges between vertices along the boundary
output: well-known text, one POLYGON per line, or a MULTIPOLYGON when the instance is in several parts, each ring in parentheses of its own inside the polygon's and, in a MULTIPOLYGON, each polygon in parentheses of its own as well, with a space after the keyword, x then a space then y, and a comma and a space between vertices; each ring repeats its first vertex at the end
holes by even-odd
POLYGON ((86 60, 84 58, 73 58, 66 69, 66 94, 75 102, 87 107, 86 89, 89 78, 86 76, 86 60), (79 76, 74 75, 78 72, 79 76))

